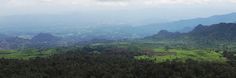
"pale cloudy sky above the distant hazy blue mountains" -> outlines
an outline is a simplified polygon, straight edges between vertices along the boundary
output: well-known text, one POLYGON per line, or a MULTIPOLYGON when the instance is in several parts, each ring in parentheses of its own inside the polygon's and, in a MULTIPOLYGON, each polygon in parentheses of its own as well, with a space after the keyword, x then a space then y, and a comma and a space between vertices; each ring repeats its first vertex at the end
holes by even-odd
POLYGON ((0 0, 0 16, 97 12, 176 20, 232 13, 235 7, 236 0, 0 0))

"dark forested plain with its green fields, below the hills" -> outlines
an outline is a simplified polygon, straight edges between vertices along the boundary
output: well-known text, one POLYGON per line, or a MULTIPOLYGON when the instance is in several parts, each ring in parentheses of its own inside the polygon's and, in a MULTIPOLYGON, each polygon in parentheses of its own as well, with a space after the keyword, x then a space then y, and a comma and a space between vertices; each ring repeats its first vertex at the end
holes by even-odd
POLYGON ((197 49, 181 49, 179 51, 182 52, 178 52, 177 47, 163 46, 147 43, 96 43, 28 49, 17 54, 2 50, 0 78, 236 77, 234 52, 194 52, 197 49), (172 53, 174 51, 176 54, 172 53), (146 58, 142 58, 144 56, 146 58))

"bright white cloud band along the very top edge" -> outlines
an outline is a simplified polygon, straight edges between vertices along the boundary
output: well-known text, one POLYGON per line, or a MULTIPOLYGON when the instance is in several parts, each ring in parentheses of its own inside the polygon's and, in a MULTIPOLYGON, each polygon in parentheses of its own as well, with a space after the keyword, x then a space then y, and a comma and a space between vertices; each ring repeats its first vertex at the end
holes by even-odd
POLYGON ((162 6, 162 5, 200 5, 217 3, 236 3, 236 0, 0 0, 0 7, 11 8, 34 8, 57 6, 57 7, 137 7, 137 6, 162 6))

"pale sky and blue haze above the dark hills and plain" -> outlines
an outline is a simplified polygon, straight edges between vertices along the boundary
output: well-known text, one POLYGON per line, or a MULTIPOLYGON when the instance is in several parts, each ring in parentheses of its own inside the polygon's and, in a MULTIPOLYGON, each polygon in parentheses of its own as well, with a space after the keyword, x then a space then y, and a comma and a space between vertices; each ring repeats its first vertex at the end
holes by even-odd
POLYGON ((235 22, 235 14, 230 14, 236 12, 234 7, 236 0, 0 0, 0 30, 2 33, 117 32, 144 37, 162 29, 182 32, 198 24, 235 22), (230 14, 227 19, 222 16, 203 22, 199 19, 172 23, 225 14, 230 14))

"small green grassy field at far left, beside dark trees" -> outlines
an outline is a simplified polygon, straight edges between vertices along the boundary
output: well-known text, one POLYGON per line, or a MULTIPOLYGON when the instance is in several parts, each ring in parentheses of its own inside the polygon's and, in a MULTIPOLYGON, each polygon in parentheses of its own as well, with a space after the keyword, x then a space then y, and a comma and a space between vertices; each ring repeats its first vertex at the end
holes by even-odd
POLYGON ((55 53, 54 49, 45 51, 37 51, 35 49, 16 51, 16 50, 0 50, 0 58, 6 59, 30 59, 35 57, 47 57, 55 53))

